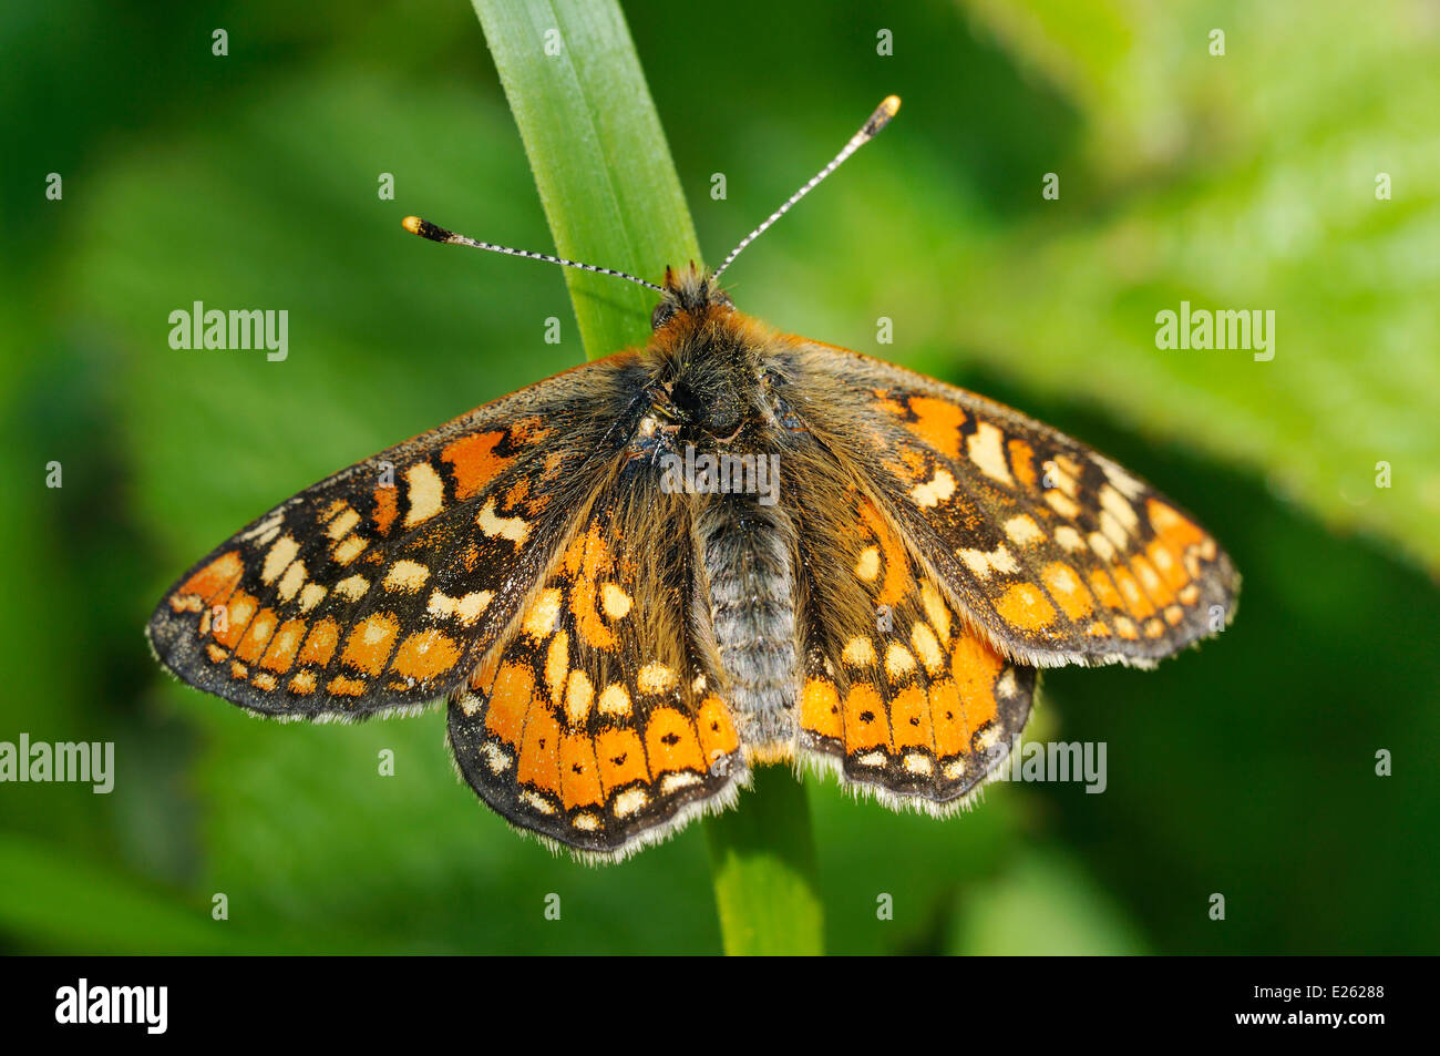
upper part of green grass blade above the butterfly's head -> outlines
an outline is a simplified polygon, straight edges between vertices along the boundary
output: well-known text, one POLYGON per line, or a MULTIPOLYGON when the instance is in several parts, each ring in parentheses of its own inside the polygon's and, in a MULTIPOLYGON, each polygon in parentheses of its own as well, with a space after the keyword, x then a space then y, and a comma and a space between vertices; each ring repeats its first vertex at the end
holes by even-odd
MULTIPOLYGON (((556 252, 658 282, 700 261, 696 229, 615 3, 475 0, 556 252)), ((590 359, 649 336, 655 292, 566 268, 590 359)))

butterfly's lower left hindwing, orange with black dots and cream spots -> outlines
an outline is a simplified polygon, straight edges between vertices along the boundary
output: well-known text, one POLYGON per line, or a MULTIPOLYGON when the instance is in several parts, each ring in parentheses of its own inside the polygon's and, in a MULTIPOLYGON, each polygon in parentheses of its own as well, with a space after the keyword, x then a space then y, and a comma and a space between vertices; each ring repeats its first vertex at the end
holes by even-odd
POLYGON ((648 460, 629 461, 514 635, 452 694, 461 775, 511 824, 611 859, 727 805, 747 779, 713 645, 694 630, 685 520, 648 460))

